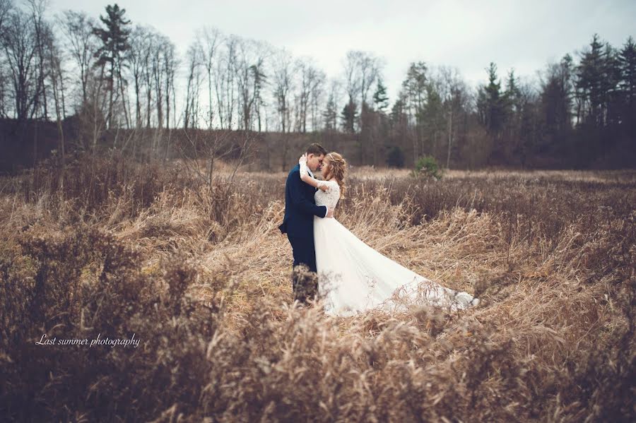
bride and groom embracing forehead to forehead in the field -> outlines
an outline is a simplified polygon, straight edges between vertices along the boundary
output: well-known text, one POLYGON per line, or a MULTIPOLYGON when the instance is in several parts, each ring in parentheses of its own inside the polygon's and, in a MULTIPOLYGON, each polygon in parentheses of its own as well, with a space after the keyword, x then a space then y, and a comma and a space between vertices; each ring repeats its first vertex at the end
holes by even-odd
MULTIPOLYGON (((396 310, 408 302, 466 309, 478 299, 423 278, 383 256, 334 218, 344 198, 347 163, 342 155, 310 145, 285 182, 285 218, 279 227, 292 246, 293 266, 319 273, 324 311, 351 316, 370 309, 396 310), (322 170, 322 179, 313 172, 322 170), (327 279, 329 285, 326 284, 327 279)), ((298 272, 293 273, 298 289, 298 272)))

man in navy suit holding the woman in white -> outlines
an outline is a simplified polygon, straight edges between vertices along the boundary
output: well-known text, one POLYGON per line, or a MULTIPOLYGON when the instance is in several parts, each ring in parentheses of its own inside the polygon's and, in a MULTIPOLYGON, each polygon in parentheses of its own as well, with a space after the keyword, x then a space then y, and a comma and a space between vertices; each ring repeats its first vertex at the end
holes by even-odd
MULTIPOLYGON (((326 150, 322 145, 313 143, 307 150, 307 167, 316 172, 322 167, 322 160, 326 150)), ((314 176, 312 174, 312 176, 314 176)), ((314 193, 317 189, 300 180, 300 165, 290 170, 285 182, 285 218, 278 227, 283 234, 287 234, 292 246, 295 268, 305 264, 312 272, 316 270, 316 251, 314 249, 314 216, 319 218, 333 218, 334 210, 328 210, 326 205, 316 205, 314 193)), ((297 273, 293 273, 292 287, 296 294, 297 273)), ((296 295, 294 295, 296 296, 296 295)))

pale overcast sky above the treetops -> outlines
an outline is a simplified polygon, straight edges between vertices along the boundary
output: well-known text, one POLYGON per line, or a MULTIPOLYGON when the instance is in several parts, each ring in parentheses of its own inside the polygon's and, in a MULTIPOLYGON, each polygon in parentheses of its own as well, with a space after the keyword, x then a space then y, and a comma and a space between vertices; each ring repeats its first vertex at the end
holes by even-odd
MULTIPOLYGON (((98 18, 110 1, 50 0, 51 13, 72 9, 98 18)), ((340 76, 350 49, 385 59, 393 102, 411 61, 457 67, 476 85, 494 61, 525 78, 547 61, 579 51, 594 32, 615 47, 636 37, 635 0, 128 0, 117 2, 133 23, 152 25, 182 54, 194 32, 211 25, 225 34, 264 40, 295 56, 311 56, 340 76)))

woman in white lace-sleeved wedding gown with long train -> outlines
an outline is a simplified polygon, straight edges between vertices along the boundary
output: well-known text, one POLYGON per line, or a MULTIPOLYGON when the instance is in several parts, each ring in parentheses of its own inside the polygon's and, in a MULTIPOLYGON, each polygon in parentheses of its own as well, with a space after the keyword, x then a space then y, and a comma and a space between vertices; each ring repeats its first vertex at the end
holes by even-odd
MULTIPOLYGON (((307 155, 300 160, 300 179, 316 187, 316 205, 334 210, 343 198, 346 160, 338 153, 325 155, 322 164, 324 181, 307 172, 307 155)), ((319 283, 325 313, 351 316, 369 309, 396 311, 408 302, 428 303, 451 310, 466 309, 479 300, 467 292, 457 292, 408 270, 360 241, 335 218, 314 217, 316 268, 329 277, 319 283)))

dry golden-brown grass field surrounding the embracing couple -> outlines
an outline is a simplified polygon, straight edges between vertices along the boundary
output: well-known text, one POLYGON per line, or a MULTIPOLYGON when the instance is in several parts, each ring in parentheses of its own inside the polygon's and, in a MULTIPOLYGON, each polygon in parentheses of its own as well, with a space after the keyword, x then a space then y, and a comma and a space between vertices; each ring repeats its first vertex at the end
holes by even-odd
POLYGON ((3 419, 636 419, 636 172, 353 169, 336 218, 482 302, 351 318, 292 304, 285 176, 0 179, 3 419), (99 333, 139 346, 36 343, 99 333))

